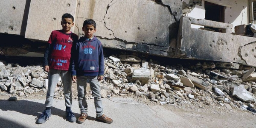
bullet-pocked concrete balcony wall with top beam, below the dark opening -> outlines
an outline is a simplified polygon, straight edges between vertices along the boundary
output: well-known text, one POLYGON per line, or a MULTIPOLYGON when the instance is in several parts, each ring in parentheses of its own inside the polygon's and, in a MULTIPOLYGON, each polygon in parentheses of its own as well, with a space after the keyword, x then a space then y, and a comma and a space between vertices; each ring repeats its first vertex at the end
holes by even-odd
POLYGON ((191 28, 191 24, 201 24, 231 31, 232 25, 214 24, 209 20, 197 20, 192 17, 180 19, 177 56, 212 61, 236 62, 256 66, 256 38, 191 28))

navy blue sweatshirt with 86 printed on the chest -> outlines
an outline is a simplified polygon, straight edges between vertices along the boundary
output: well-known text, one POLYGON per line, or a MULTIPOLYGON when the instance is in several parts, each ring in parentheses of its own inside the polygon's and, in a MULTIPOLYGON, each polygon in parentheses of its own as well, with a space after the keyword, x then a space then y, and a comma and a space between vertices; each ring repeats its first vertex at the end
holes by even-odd
POLYGON ((104 56, 102 43, 96 38, 81 37, 72 49, 71 75, 104 75, 104 56))

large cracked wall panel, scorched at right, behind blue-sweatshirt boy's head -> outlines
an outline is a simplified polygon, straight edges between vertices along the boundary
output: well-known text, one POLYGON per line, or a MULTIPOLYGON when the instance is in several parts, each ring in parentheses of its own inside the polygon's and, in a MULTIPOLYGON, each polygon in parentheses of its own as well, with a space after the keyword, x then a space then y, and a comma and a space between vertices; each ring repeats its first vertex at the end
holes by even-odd
POLYGON ((169 56, 170 44, 176 45, 180 0, 163 0, 162 5, 150 0, 79 2, 74 32, 80 36, 84 20, 90 18, 96 21, 95 35, 105 47, 169 56))

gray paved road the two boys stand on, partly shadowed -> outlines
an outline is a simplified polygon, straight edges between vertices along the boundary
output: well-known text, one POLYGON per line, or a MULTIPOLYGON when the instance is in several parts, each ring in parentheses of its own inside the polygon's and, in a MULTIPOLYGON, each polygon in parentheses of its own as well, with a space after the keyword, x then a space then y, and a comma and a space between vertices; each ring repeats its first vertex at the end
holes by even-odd
MULTIPOLYGON (((88 100, 87 120, 78 124, 68 122, 65 118, 64 100, 54 100, 52 117, 46 123, 37 125, 35 118, 44 111, 45 100, 0 100, 0 127, 1 128, 198 128, 179 115, 162 107, 147 106, 143 103, 134 103, 130 99, 111 98, 103 99, 104 112, 114 121, 111 124, 95 121, 93 99, 88 100), (113 101, 115 102, 113 102, 113 101), (124 102, 124 103, 116 103, 124 102)), ((72 111, 79 117, 78 101, 73 100, 72 111)))

